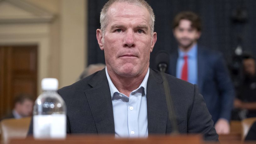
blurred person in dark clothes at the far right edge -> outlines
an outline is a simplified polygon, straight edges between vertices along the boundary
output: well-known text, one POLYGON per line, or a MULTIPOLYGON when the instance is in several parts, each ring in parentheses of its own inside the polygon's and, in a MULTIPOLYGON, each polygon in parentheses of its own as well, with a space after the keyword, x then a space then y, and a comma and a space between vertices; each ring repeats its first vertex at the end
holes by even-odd
POLYGON ((250 55, 243 56, 244 80, 239 87, 234 107, 246 109, 246 117, 256 117, 256 65, 255 58, 250 55))

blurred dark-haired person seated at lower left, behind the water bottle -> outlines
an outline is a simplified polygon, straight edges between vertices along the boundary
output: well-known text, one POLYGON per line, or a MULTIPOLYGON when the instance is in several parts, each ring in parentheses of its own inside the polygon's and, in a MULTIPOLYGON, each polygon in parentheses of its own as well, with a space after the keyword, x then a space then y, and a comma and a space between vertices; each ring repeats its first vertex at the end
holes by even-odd
POLYGON ((12 113, 6 115, 3 119, 20 119, 32 115, 34 100, 29 94, 19 94, 14 98, 14 109, 12 113))

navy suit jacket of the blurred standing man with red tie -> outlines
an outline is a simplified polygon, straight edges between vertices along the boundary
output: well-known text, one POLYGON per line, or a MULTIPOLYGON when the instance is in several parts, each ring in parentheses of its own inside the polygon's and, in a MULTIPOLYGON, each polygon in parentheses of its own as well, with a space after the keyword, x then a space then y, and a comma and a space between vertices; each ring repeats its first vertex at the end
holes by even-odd
MULTIPOLYGON (((169 74, 173 76, 177 58, 178 52, 170 55, 169 74)), ((214 124, 219 118, 230 120, 235 92, 221 53, 198 47, 198 88, 214 124)))

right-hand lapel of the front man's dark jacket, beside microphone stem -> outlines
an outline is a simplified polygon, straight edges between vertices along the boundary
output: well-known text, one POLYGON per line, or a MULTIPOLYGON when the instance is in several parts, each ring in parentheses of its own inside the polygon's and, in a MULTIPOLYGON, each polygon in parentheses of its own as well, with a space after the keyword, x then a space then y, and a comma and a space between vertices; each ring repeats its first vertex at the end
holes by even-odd
POLYGON ((150 69, 147 80, 147 125, 148 134, 165 134, 168 111, 161 75, 150 69))

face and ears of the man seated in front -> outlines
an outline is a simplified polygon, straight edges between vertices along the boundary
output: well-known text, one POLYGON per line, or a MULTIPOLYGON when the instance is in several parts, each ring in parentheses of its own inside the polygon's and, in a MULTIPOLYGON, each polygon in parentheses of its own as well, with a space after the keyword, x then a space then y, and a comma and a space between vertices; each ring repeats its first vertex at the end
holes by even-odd
POLYGON ((151 36, 147 9, 116 2, 110 6, 107 17, 104 43, 99 29, 97 40, 101 50, 104 50, 108 72, 122 77, 145 73, 157 39, 155 32, 151 36))

